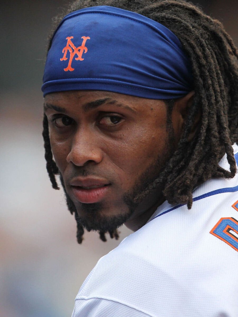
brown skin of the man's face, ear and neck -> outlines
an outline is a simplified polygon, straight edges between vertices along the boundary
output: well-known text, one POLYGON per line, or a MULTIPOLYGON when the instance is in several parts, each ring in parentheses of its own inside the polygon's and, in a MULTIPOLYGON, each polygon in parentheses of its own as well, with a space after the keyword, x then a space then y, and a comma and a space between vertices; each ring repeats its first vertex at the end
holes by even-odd
MULTIPOLYGON (((90 177, 100 179, 108 187, 96 202, 100 204, 100 210, 93 215, 96 220, 128 214, 123 197, 133 191, 142 175, 148 174, 148 179, 152 179, 153 166, 159 173, 171 157, 183 132, 193 95, 190 92, 174 103, 173 146, 168 146, 167 105, 163 100, 106 91, 67 91, 45 96, 52 152, 80 217, 90 222, 91 215, 75 196, 72 182, 90 177)), ((152 192, 130 212, 125 225, 138 230, 163 202, 162 192, 152 192)))

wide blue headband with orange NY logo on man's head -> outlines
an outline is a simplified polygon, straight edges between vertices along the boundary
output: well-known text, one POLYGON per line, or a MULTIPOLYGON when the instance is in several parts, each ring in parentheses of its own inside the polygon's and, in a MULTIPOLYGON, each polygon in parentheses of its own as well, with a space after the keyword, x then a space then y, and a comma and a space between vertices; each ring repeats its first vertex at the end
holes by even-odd
POLYGON ((150 99, 179 98, 192 88, 191 65, 169 29, 138 13, 109 6, 74 11, 53 36, 44 96, 106 90, 150 99))

